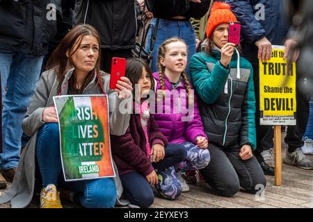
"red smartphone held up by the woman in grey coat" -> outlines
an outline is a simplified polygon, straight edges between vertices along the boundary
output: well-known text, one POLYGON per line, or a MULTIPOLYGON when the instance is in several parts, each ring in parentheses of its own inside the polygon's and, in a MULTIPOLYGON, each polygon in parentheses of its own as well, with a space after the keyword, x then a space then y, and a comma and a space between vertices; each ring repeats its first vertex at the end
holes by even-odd
POLYGON ((116 84, 122 76, 125 76, 126 59, 113 57, 111 62, 110 89, 116 89, 116 84))

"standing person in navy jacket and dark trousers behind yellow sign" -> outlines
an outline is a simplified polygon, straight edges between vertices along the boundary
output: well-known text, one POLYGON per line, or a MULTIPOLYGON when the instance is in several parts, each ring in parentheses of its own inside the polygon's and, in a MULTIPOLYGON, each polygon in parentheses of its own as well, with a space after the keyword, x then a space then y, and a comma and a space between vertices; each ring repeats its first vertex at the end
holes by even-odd
MULTIPOLYGON (((259 62, 271 58, 272 45, 286 46, 286 55, 294 40, 288 39, 289 25, 282 17, 284 1, 282 0, 226 0, 232 6, 232 11, 241 22, 241 45, 243 56, 253 67, 255 83, 255 98, 257 112, 257 149, 255 156, 266 175, 274 175, 273 165, 273 128, 259 125, 259 62), (266 162, 264 161, 266 159, 266 162)), ((294 59, 296 60, 297 57, 294 59)), ((298 87, 297 87, 298 89, 298 87)), ((303 169, 313 169, 312 162, 301 151, 302 137, 305 133, 308 119, 310 97, 297 90, 297 125, 288 126, 284 141, 288 144, 288 152, 284 162, 303 169)))

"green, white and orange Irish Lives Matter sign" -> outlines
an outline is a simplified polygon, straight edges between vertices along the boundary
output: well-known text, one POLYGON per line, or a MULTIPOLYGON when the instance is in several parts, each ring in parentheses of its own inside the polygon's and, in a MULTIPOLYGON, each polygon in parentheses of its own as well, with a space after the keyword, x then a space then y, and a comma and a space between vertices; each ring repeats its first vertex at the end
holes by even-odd
POLYGON ((64 178, 113 177, 106 95, 54 96, 64 178))

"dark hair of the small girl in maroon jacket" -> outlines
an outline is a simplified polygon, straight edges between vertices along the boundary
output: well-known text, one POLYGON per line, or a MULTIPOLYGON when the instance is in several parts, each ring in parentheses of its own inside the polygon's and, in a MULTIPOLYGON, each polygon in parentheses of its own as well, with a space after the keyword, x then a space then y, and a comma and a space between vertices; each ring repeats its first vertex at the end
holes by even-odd
POLYGON ((147 65, 147 62, 144 62, 140 58, 130 58, 127 60, 126 64, 126 77, 129 78, 131 81, 132 87, 133 87, 133 95, 135 98, 135 84, 138 84, 139 79, 141 76, 143 76, 143 68, 145 68, 145 71, 147 71, 148 74, 150 74, 150 80, 151 80, 151 89, 154 90, 154 78, 152 76, 152 71, 147 65))

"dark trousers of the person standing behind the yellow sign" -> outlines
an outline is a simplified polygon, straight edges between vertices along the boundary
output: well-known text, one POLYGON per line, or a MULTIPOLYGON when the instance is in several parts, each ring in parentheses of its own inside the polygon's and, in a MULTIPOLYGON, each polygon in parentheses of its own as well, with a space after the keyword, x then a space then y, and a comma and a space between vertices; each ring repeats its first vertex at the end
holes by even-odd
MULTIPOLYGON (((274 146, 272 126, 259 125, 259 63, 252 63, 253 80, 255 83, 255 100, 256 112, 255 123, 257 129, 257 149, 254 151, 259 162, 263 162, 263 157, 260 155, 262 151, 266 151, 274 146)), ((294 152, 296 148, 303 146, 302 137, 307 128, 307 120, 309 119, 309 101, 310 95, 300 91, 301 80, 297 79, 296 87, 296 126, 288 126, 287 135, 284 142, 288 144, 288 151, 294 152)))

